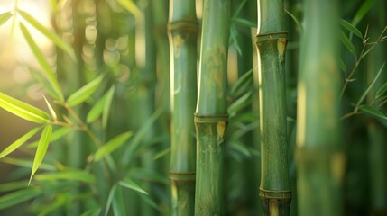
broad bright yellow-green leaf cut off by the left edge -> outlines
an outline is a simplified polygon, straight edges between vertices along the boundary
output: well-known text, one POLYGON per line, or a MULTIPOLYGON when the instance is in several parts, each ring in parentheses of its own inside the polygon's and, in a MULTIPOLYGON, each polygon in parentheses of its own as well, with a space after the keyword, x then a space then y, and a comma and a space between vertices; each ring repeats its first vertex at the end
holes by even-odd
POLYGON ((50 122, 50 116, 46 112, 43 112, 30 104, 23 103, 1 92, 0 107, 27 121, 32 121, 35 123, 50 122))

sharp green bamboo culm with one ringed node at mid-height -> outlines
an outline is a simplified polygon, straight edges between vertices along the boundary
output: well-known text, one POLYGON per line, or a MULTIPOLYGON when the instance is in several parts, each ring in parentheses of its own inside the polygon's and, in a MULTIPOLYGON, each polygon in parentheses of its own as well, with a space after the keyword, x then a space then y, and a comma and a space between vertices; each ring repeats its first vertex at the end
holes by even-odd
POLYGON ((228 121, 226 69, 229 0, 204 0, 201 35, 195 215, 223 215, 223 151, 228 121))

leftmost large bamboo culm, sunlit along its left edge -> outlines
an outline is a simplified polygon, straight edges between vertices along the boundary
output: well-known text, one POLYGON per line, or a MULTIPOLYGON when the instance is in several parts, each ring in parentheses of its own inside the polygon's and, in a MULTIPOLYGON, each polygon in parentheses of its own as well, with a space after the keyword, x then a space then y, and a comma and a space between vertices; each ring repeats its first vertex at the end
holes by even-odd
POLYGON ((170 1, 170 193, 172 215, 195 211, 198 21, 194 0, 170 1))

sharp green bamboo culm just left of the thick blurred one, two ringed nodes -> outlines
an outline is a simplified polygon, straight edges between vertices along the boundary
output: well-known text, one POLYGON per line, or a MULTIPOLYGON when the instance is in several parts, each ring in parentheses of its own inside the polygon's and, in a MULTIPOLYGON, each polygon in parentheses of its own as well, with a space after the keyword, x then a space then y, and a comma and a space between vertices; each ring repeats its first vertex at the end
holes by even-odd
POLYGON ((290 214, 288 142, 285 101, 283 0, 258 2, 256 45, 259 61, 261 185, 263 215, 290 214))

